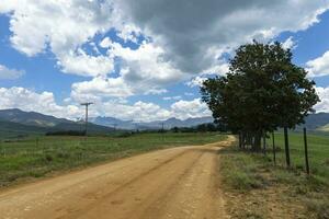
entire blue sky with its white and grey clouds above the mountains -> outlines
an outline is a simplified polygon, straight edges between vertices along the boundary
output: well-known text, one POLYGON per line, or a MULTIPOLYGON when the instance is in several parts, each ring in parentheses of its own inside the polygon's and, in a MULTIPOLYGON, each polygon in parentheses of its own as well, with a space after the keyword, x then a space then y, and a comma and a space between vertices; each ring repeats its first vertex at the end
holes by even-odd
POLYGON ((207 116, 197 85, 256 38, 292 48, 317 83, 316 110, 329 112, 327 0, 163 2, 2 0, 0 108, 73 119, 92 101, 92 116, 207 116))

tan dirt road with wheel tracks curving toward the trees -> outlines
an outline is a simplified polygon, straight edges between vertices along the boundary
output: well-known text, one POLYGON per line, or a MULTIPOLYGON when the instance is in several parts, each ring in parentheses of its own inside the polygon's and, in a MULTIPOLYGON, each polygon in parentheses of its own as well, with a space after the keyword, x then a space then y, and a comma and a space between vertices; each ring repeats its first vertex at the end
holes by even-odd
POLYGON ((0 218, 225 218, 219 143, 136 155, 0 193, 0 218))

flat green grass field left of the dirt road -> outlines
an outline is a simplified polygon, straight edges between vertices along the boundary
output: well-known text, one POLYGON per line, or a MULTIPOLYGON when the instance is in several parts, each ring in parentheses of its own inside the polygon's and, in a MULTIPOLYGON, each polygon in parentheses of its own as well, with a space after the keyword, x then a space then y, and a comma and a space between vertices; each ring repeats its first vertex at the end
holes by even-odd
POLYGON ((30 137, 0 141, 0 187, 144 151, 203 145, 218 134, 135 134, 117 137, 30 137))

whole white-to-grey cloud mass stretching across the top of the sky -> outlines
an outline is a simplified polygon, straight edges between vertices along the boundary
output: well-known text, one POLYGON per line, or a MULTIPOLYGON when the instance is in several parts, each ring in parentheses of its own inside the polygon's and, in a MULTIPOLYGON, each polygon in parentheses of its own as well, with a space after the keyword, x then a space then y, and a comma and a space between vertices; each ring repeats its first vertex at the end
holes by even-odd
POLYGON ((328 7, 327 0, 2 0, 0 13, 10 16, 10 39, 19 51, 36 56, 50 50, 64 72, 103 79, 118 57, 120 77, 137 94, 200 73, 223 74, 225 53, 252 38, 305 30, 328 7), (111 30, 139 45, 131 49, 110 37, 94 42, 111 30), (140 36, 149 41, 140 43, 140 36), (97 53, 88 53, 86 44, 97 53))

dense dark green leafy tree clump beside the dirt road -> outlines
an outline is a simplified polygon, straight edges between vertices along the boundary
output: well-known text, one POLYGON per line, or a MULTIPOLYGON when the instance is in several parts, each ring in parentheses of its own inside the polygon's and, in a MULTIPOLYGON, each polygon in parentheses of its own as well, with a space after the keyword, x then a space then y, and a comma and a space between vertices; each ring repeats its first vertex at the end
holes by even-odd
POLYGON ((307 71, 292 62, 280 43, 242 45, 229 72, 204 81, 201 93, 216 123, 240 135, 241 145, 261 150, 261 138, 304 123, 319 101, 307 71))

